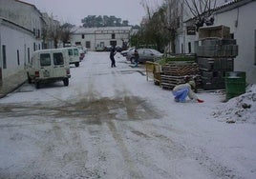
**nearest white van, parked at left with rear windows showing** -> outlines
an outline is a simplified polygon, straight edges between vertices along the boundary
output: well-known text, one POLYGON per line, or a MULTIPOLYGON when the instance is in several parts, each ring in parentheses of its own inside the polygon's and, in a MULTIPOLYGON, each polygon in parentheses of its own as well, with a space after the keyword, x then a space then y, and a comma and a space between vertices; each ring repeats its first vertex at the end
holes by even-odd
POLYGON ((64 49, 36 50, 26 65, 28 81, 39 89, 41 83, 63 81, 69 86, 71 77, 68 51, 64 49))

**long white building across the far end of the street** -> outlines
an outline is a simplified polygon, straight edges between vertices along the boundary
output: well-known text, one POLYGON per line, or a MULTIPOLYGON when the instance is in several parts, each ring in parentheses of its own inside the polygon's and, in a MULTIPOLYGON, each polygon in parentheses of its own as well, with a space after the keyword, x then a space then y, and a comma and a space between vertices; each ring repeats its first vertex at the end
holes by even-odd
POLYGON ((104 50, 105 47, 128 43, 132 27, 76 28, 71 43, 88 50, 104 50))

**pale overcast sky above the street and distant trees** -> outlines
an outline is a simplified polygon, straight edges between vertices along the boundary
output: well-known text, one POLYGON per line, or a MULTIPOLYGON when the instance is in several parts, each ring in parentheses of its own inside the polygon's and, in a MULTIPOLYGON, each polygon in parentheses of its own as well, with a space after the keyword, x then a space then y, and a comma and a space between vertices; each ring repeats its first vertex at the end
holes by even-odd
MULTIPOLYGON (((130 25, 139 25, 146 11, 141 0, 21 0, 33 4, 41 12, 53 14, 61 23, 81 25, 81 19, 88 15, 115 15, 128 20, 130 25)), ((143 0, 152 7, 162 0, 143 0)))

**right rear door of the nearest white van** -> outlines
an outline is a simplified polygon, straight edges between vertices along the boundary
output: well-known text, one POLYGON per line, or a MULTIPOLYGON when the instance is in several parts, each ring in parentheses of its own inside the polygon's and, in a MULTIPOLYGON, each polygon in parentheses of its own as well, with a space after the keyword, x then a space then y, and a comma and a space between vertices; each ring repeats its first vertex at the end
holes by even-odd
POLYGON ((66 68, 64 56, 62 52, 53 52, 53 76, 64 77, 66 76, 66 68))

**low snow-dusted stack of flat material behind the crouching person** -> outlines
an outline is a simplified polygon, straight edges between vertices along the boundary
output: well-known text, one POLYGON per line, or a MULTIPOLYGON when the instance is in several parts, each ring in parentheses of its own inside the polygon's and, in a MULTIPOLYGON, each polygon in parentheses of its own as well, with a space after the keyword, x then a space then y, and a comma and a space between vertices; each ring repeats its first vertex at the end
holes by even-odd
POLYGON ((199 74, 199 66, 195 63, 168 63, 162 66, 160 85, 162 89, 173 89, 185 83, 186 76, 199 74))

